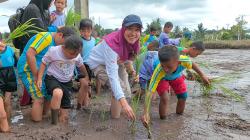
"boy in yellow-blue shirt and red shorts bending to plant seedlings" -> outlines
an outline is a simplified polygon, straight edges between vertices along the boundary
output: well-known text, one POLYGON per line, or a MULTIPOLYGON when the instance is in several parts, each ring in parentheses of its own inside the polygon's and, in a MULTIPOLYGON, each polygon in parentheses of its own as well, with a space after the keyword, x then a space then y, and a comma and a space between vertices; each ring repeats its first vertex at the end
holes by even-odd
MULTIPOLYGON (((153 67, 154 70, 149 84, 149 93, 147 94, 151 97, 156 91, 158 92, 160 96, 160 119, 166 119, 167 117, 167 93, 170 87, 173 88, 178 98, 176 113, 183 114, 188 93, 182 71, 185 69, 193 69, 200 75, 205 84, 210 84, 209 79, 188 56, 180 56, 175 46, 164 46, 159 50, 158 55, 153 58, 153 63, 149 63, 148 66, 153 67)), ((148 110, 145 107, 142 122, 144 125, 147 125, 148 121, 148 110)))

